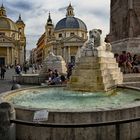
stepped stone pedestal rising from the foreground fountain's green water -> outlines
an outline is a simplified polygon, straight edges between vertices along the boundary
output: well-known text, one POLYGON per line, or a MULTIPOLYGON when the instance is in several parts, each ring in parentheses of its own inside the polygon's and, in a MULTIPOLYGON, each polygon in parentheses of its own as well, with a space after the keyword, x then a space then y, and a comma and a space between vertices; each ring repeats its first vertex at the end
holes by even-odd
POLYGON ((122 81, 123 76, 114 54, 111 52, 111 45, 104 43, 94 47, 92 39, 90 39, 81 49, 81 56, 72 72, 68 89, 108 91, 118 84, 122 84, 122 81))

